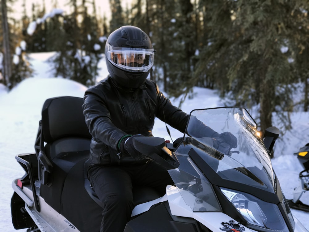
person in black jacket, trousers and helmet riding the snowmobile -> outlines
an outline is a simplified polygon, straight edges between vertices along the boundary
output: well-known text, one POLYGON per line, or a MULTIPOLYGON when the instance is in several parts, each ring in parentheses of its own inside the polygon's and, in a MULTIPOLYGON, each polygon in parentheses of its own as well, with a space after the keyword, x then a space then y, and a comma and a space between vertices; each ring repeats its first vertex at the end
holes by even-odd
MULTIPOLYGON (((168 172, 133 146, 135 136, 153 136, 158 117, 184 132, 188 114, 172 105, 155 82, 147 79, 154 64, 149 36, 140 28, 123 26, 106 41, 109 75, 84 95, 83 113, 92 140, 88 178, 104 204, 102 231, 123 231, 133 209, 133 187, 149 186, 161 195, 173 185, 168 172)), ((218 135, 205 127, 209 136, 218 135)), ((230 147, 234 135, 221 136, 230 147)))

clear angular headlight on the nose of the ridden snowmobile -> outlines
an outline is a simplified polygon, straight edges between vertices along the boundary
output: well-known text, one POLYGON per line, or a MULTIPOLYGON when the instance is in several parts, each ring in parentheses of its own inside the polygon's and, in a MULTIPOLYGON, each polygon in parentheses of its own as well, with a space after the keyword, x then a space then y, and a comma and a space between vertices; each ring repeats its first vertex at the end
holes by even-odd
POLYGON ((257 197, 231 189, 221 188, 226 198, 250 225, 265 229, 288 232, 289 229, 276 204, 262 201, 257 197))

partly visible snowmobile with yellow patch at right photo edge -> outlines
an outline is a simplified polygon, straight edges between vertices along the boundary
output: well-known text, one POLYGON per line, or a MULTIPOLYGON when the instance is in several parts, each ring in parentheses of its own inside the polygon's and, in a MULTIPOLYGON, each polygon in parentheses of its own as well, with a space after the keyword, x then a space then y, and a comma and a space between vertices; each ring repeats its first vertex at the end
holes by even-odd
POLYGON ((304 170, 299 173, 299 185, 294 189, 293 199, 289 199, 290 208, 303 210, 309 212, 309 205, 304 204, 300 198, 304 192, 309 190, 309 143, 300 148, 298 152, 294 153, 298 161, 304 167, 304 170))

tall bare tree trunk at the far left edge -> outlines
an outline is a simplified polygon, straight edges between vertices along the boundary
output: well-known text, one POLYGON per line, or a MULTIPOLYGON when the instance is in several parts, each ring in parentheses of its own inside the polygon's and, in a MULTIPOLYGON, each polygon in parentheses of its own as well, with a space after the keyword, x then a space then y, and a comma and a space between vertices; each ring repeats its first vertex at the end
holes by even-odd
POLYGON ((9 40, 9 26, 7 22, 6 0, 1 0, 2 28, 3 28, 3 51, 4 51, 4 84, 10 87, 12 75, 12 63, 9 40))

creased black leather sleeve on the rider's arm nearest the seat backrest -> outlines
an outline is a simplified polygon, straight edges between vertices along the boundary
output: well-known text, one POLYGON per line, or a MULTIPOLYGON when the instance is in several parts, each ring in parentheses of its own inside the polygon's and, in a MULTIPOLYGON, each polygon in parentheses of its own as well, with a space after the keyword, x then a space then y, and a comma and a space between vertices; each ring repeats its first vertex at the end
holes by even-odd
POLYGON ((99 89, 88 89, 84 95, 83 113, 93 139, 117 150, 119 140, 127 134, 112 123, 105 102, 105 95, 99 89))

